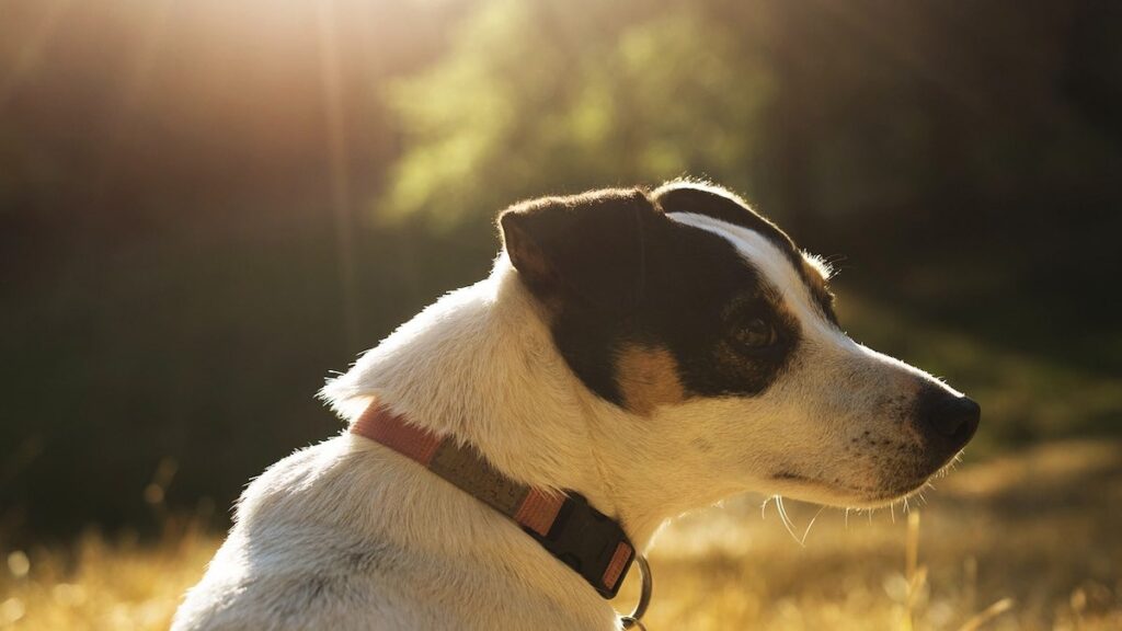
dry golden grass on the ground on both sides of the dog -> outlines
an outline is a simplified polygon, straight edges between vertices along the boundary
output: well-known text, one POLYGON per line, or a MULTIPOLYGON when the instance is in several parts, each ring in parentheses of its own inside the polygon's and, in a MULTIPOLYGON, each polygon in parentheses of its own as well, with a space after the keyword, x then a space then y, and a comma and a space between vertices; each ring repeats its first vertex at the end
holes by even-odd
MULTIPOLYGON (((930 502, 867 513, 730 502, 662 533, 654 630, 1122 629, 1122 445, 1066 442, 962 467, 930 502)), ((914 504, 914 503, 913 503, 914 504)), ((2 629, 166 629, 213 534, 3 550, 2 629)), ((628 579, 617 606, 629 606, 628 579)))

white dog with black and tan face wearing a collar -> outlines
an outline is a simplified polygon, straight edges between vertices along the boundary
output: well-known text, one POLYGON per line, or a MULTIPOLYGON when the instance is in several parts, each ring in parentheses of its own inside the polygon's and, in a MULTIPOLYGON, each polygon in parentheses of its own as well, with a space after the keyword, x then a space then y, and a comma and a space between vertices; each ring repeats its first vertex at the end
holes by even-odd
POLYGON ((324 386, 350 431, 248 486, 173 629, 638 627, 605 596, 668 520, 745 492, 891 503, 978 426, 852 340, 827 265, 725 189, 544 198, 498 228, 486 280, 324 386))

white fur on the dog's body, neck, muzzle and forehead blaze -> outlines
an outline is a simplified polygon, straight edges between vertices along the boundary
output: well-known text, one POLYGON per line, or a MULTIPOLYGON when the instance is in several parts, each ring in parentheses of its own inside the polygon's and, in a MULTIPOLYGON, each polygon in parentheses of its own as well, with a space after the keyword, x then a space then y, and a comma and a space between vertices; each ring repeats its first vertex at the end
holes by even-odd
MULTIPOLYGON (((487 280, 402 326, 324 397, 349 421, 377 397, 476 446, 512 478, 580 492, 618 519, 638 550, 668 519, 744 491, 877 500, 854 491, 884 486, 872 461, 839 464, 837 446, 867 427, 898 431, 867 418, 868 397, 886 383, 904 391, 926 377, 828 327, 766 239, 706 217, 673 219, 721 235, 761 268, 799 314, 819 365, 804 358, 760 397, 696 399, 632 415, 574 377, 502 254, 487 280), (783 467, 818 482, 776 479, 783 467)), ((249 485, 229 538, 173 623, 176 631, 617 628, 611 604, 516 524, 349 433, 293 454, 249 485)))

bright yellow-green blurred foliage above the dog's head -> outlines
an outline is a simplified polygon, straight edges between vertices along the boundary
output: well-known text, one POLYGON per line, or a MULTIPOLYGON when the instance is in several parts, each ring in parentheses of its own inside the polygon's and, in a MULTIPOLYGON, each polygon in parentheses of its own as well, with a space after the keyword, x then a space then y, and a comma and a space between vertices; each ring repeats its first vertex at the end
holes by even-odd
POLYGON ((773 92, 760 54, 693 4, 637 24, 577 4, 487 2, 444 61, 394 86, 408 148, 384 217, 450 228, 543 192, 751 184, 773 92))

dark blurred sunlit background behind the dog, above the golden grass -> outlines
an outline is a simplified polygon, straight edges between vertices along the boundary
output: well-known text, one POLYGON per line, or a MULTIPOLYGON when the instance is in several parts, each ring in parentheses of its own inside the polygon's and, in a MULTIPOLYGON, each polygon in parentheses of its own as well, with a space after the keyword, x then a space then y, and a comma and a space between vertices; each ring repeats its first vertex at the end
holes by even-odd
POLYGON ((220 531, 341 429, 325 377, 487 273, 498 210, 682 175, 977 399, 968 461, 1113 445, 1119 33, 1110 0, 2 0, 0 548, 220 531))

